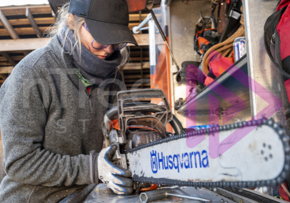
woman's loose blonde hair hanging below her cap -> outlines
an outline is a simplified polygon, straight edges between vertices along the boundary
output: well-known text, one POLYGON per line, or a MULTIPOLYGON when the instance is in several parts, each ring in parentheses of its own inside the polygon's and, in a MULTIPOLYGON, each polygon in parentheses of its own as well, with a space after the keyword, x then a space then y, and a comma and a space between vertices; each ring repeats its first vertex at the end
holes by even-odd
MULTIPOLYGON (((81 40, 83 39, 82 36, 80 35, 80 29, 82 27, 82 24, 84 23, 84 18, 80 17, 80 16, 76 16, 73 14, 70 14, 68 12, 68 8, 69 8, 69 3, 65 4, 62 9, 57 13, 57 18, 56 18, 56 22, 53 24, 52 27, 48 28, 48 37, 54 37, 55 35, 57 35, 60 32, 65 32, 65 41, 68 40, 72 46, 72 50, 74 50, 75 48, 77 48, 78 52, 79 52, 79 57, 81 59, 81 40), (71 16, 69 18, 69 15, 71 16), (70 20, 68 20, 70 19, 70 20), (65 31, 64 28, 67 27, 67 29, 65 31), (75 38, 75 44, 72 43, 72 41, 69 39, 68 37, 68 33, 70 30, 73 30, 73 35, 75 38)), ((129 59, 129 48, 128 46, 126 46, 125 48, 120 50, 121 52, 121 64, 119 65, 119 67, 124 66, 128 59, 129 59)), ((117 69, 118 71, 118 69, 117 69)))

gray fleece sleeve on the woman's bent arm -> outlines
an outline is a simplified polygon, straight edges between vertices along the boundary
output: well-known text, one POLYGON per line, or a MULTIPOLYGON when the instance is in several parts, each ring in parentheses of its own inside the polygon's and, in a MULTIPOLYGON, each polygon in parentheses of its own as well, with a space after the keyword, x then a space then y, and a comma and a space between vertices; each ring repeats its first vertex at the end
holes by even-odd
POLYGON ((49 87, 31 67, 16 66, 4 82, 0 90, 4 170, 22 184, 90 184, 90 155, 62 156, 42 147, 52 99, 49 87))

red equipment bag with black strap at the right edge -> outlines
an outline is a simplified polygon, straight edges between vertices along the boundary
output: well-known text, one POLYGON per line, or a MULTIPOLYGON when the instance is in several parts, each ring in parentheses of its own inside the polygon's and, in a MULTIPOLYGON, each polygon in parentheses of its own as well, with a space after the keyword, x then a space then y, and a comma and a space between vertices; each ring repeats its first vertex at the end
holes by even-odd
POLYGON ((264 42, 270 59, 277 67, 281 89, 284 114, 290 129, 290 0, 282 0, 277 10, 266 21, 264 26, 264 42), (273 38, 273 39, 272 39, 273 38), (275 56, 270 50, 271 40, 275 39, 275 56))

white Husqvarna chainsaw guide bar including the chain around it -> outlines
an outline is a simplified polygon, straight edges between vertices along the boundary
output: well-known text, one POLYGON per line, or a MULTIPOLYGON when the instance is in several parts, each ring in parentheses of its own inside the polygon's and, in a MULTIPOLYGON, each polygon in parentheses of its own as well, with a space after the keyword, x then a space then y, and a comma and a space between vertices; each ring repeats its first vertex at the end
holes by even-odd
POLYGON ((273 119, 182 133, 132 148, 125 154, 132 180, 138 183, 255 188, 283 182, 290 168, 289 136, 273 119), (237 129, 254 130, 221 154, 220 144, 216 151, 219 154, 214 157, 209 150, 209 137, 219 133, 223 140, 237 129), (207 139, 193 148, 187 147, 188 140, 200 136, 207 139))

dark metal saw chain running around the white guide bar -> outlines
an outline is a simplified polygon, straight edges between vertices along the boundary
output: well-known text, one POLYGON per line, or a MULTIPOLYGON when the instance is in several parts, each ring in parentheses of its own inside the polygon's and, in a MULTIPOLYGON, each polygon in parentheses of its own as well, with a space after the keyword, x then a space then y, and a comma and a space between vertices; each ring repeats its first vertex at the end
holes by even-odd
POLYGON ((256 187, 263 187, 263 186, 274 186, 277 184, 280 184, 283 182, 287 176, 287 173, 289 172, 290 168, 290 156, 289 156, 289 136, 286 134, 285 130, 278 124, 275 123, 274 120, 271 118, 269 120, 267 119, 260 119, 260 120, 254 120, 254 121, 248 121, 248 122, 240 122, 230 125, 224 125, 224 126, 217 126, 212 127, 209 129, 201 129, 199 131, 192 131, 187 133, 182 133, 180 135, 173 135, 167 138, 163 138, 157 141, 153 141, 147 144, 143 144, 142 146, 138 146, 132 149, 129 149, 125 151, 125 154, 132 154, 134 152, 137 152, 139 150, 149 148, 156 146, 161 143, 170 142, 172 140, 178 140, 182 138, 188 138, 193 136, 199 136, 199 135, 205 135, 205 134, 211 134, 214 132, 222 132, 227 130, 233 130, 238 128, 245 128, 250 126, 263 126, 267 125, 271 127, 276 134, 279 136, 280 140, 283 142, 283 148, 285 152, 285 163, 282 171, 280 172, 280 175, 272 180, 266 180, 266 181, 236 181, 236 182, 228 182, 228 181, 218 181, 218 182, 187 182, 187 181, 176 181, 176 180, 170 180, 170 179, 164 179, 164 180, 156 180, 154 178, 134 178, 134 182, 138 183, 150 183, 150 184, 160 184, 160 185, 176 185, 176 186, 188 186, 188 187, 206 187, 206 188, 256 188, 256 187))

